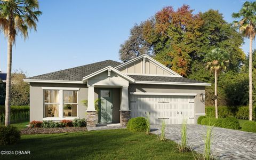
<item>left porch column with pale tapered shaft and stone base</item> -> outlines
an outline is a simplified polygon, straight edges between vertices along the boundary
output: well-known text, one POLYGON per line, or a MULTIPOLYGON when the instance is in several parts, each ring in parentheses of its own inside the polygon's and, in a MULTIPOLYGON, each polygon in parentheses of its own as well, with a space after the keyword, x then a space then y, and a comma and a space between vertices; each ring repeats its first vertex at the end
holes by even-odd
POLYGON ((96 110, 94 106, 94 85, 88 85, 88 106, 87 106, 86 122, 87 126, 96 126, 96 110))

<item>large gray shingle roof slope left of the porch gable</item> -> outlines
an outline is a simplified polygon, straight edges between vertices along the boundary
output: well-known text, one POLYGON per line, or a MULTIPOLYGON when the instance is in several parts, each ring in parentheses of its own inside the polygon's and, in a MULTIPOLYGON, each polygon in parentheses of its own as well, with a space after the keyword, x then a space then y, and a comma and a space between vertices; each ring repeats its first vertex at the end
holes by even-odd
POLYGON ((41 80, 59 80, 59 81, 82 81, 84 76, 90 75, 95 71, 102 68, 111 66, 116 67, 121 65, 120 62, 113 60, 106 60, 96 63, 91 63, 89 65, 69 68, 60 71, 54 71, 52 73, 43 74, 39 76, 29 77, 28 79, 41 79, 41 80))

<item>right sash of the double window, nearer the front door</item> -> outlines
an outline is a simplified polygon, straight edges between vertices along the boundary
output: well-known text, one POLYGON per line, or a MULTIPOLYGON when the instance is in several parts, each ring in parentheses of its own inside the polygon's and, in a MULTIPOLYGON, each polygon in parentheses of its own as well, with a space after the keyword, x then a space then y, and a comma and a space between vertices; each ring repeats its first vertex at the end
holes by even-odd
POLYGON ((77 116, 77 91, 63 91, 63 117, 77 116))

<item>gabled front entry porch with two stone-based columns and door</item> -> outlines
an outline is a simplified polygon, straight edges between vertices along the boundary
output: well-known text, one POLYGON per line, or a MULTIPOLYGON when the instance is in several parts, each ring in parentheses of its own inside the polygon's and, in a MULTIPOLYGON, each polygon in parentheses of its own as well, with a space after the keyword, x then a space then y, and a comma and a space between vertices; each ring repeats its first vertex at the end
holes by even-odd
POLYGON ((106 67, 83 80, 87 81, 88 87, 87 126, 95 127, 98 123, 120 123, 120 126, 126 126, 131 114, 128 86, 134 79, 112 67, 106 67), (98 108, 95 108, 95 94, 98 94, 98 108))

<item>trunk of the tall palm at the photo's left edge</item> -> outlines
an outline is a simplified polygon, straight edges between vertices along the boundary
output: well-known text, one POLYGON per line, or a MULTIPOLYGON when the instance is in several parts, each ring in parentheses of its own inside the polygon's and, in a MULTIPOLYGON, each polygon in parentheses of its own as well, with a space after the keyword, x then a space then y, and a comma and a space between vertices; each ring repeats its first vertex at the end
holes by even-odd
POLYGON ((12 41, 11 41, 12 20, 9 19, 8 42, 7 42, 7 75, 6 75, 6 94, 5 94, 5 126, 11 123, 11 74, 12 74, 12 41))

